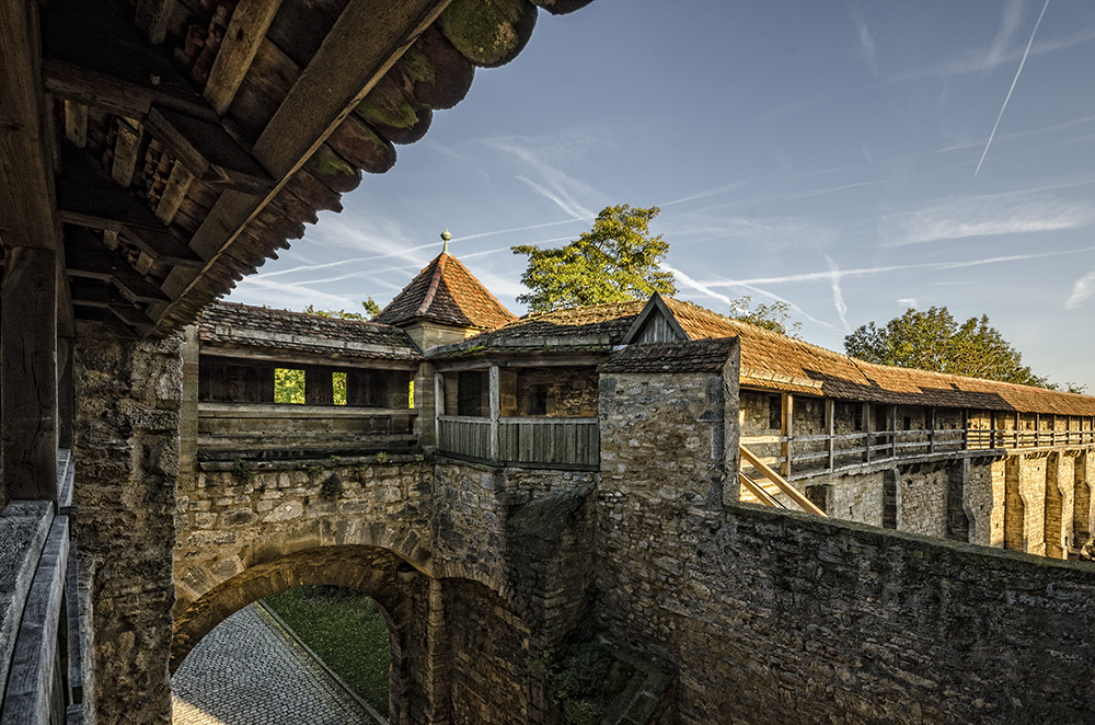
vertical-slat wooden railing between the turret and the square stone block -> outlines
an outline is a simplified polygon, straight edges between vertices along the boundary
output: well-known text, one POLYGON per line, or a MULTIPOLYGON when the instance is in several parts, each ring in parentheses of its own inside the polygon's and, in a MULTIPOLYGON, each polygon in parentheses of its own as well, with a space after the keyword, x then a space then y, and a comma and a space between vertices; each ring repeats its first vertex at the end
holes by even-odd
POLYGON ((443 453, 515 465, 596 469, 600 464, 597 418, 442 415, 437 427, 443 453))

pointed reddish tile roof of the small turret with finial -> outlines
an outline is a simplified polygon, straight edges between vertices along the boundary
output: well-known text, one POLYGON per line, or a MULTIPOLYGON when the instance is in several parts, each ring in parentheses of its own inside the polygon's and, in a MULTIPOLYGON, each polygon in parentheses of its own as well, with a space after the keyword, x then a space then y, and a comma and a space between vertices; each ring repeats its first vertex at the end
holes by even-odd
POLYGON ((412 320, 493 330, 517 319, 460 260, 441 252, 372 319, 390 325, 412 320))

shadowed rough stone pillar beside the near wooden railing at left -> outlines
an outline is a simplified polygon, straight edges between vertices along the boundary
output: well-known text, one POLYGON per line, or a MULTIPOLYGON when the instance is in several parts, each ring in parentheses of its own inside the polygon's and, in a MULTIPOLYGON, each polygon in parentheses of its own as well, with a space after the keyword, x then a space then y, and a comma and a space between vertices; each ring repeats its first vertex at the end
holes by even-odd
POLYGON ((100 725, 168 723, 180 341, 76 345, 76 540, 91 583, 100 725))

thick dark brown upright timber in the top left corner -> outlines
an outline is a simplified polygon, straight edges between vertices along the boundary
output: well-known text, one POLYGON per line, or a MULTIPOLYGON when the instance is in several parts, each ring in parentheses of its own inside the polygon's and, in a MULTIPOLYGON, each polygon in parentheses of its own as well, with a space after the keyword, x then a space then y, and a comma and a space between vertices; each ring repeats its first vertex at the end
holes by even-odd
POLYGON ((38 3, 0 3, 0 243, 56 250, 38 3))

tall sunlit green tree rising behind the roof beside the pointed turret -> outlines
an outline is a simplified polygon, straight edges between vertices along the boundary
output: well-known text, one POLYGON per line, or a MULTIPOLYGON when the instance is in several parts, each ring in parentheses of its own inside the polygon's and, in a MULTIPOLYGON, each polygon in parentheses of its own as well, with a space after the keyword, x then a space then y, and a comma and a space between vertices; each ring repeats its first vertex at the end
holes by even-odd
POLYGON ((521 283, 531 290, 517 301, 530 312, 562 307, 622 302, 654 292, 677 291, 673 274, 659 268, 669 251, 661 234, 649 233, 650 220, 661 209, 631 208, 623 204, 604 207, 593 227, 566 246, 540 249, 530 244, 511 248, 527 254, 529 266, 521 283))

